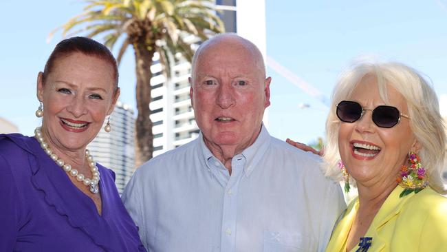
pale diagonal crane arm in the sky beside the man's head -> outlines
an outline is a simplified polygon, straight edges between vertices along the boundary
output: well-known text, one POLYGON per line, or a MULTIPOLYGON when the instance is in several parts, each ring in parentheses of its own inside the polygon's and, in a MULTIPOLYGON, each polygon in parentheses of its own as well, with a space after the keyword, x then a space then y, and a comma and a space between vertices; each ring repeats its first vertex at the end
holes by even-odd
POLYGON ((317 90, 315 87, 313 87, 300 77, 296 76, 296 74, 288 70, 286 67, 276 62, 270 56, 267 56, 267 65, 284 78, 287 78, 288 81, 301 88, 301 90, 316 98, 327 107, 330 107, 329 99, 324 94, 322 94, 319 90, 317 90))

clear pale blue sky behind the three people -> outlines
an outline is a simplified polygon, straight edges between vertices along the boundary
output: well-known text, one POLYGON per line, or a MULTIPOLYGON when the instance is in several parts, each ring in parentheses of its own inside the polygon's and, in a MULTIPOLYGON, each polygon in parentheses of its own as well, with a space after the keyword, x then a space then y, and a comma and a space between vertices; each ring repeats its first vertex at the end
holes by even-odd
MULTIPOLYGON (((243 0, 239 0, 243 1, 243 0)), ((32 134, 36 76, 54 45, 47 35, 80 13, 83 1, 2 3, 0 15, 0 117, 32 134)), ((354 59, 401 61, 447 94, 447 0, 266 0, 267 54, 329 98, 338 74, 354 59)), ((97 38, 100 40, 100 38, 97 38)), ((135 107, 133 52, 120 65, 120 100, 135 107)), ((272 76, 269 130, 278 138, 310 143, 323 136, 329 108, 283 76, 272 76), (308 104, 305 109, 300 104, 308 104)))

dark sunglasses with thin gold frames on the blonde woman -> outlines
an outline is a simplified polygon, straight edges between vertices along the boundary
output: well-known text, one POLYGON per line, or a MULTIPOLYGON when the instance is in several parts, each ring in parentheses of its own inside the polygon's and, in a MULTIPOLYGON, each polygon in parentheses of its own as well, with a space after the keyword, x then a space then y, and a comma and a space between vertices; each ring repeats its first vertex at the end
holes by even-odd
POLYGON ((345 123, 353 123, 363 116, 365 110, 373 112, 373 122, 378 127, 391 128, 400 122, 400 117, 410 118, 406 114, 400 113, 396 107, 380 105, 375 109, 364 109, 360 103, 355 101, 340 101, 337 104, 337 116, 345 123))

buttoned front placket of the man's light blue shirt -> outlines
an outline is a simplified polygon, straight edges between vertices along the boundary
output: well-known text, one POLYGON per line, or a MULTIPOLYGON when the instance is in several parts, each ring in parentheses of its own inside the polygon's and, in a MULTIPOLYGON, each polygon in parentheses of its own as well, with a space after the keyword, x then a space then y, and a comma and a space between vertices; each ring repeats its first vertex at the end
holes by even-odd
POLYGON ((242 155, 232 158, 232 173, 223 195, 221 252, 230 252, 236 249, 237 196, 245 163, 246 158, 242 155))

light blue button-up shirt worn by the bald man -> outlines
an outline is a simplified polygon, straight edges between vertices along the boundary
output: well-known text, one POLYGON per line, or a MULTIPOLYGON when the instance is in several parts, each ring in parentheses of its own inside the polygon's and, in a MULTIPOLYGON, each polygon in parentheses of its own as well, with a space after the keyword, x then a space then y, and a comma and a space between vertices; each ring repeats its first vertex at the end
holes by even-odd
POLYGON ((137 169, 122 200, 149 251, 324 251, 346 208, 320 158, 273 138, 232 158, 192 142, 137 169))

